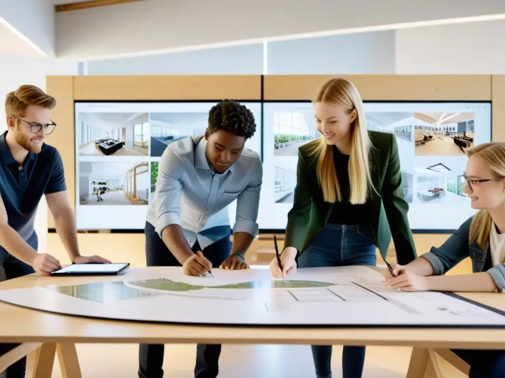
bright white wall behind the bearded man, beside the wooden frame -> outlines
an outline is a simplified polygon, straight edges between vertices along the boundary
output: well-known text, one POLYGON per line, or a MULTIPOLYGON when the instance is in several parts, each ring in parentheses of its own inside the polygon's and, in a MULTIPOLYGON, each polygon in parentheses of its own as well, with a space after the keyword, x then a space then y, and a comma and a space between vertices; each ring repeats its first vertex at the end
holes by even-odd
MULTIPOLYGON (((7 93, 16 90, 22 84, 36 85, 45 90, 45 78, 48 75, 77 75, 77 62, 61 62, 54 59, 29 58, 0 53, 0 100, 5 101, 7 93)), ((58 99, 57 99, 58 101, 58 99)), ((7 130, 4 106, 0 110, 0 132, 7 130)), ((54 119, 58 123, 58 119, 54 119)), ((73 125, 63 125, 73 127, 73 125)), ((58 133, 58 128, 55 130, 58 133)), ((69 145, 72 148, 73 145, 69 145)), ((38 234, 39 251, 46 252, 47 247, 47 204, 45 199, 39 205, 35 217, 35 231, 38 234)), ((47 251, 51 253, 51 251, 47 251)))

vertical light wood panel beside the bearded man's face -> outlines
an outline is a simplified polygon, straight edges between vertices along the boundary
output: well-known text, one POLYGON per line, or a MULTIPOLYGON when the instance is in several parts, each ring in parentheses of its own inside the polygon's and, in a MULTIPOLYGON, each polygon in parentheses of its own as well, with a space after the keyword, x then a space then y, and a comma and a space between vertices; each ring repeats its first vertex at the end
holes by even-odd
MULTIPOLYGON (((68 196, 75 211, 74 77, 48 76, 46 86, 47 94, 55 97, 57 102, 51 111, 51 119, 57 126, 55 131, 46 137, 46 141, 60 152, 65 168, 68 196)), ((47 213, 47 227, 55 228, 51 212, 47 213)))

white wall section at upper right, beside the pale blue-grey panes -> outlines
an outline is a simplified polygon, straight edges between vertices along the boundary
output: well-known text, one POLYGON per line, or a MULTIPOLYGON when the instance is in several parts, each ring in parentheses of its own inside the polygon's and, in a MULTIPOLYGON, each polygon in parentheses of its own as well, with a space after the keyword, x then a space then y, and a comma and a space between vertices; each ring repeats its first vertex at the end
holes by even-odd
POLYGON ((396 30, 396 74, 505 74, 505 20, 396 30))

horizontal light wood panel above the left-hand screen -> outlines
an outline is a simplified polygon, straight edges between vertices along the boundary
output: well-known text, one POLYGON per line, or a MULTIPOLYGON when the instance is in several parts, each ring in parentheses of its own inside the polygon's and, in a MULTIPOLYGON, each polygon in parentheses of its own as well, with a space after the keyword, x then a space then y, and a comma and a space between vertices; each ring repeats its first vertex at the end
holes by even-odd
POLYGON ((261 99, 261 76, 76 76, 76 100, 261 99))

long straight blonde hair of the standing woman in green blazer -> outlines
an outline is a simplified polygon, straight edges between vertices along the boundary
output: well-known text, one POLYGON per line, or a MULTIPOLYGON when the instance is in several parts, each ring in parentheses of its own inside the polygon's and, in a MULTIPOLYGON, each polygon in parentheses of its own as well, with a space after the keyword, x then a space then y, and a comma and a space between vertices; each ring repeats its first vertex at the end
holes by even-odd
MULTIPOLYGON (((364 204, 369 189, 373 187, 370 173, 369 154, 372 147, 365 123, 363 100, 358 89, 349 80, 337 77, 327 80, 314 94, 312 103, 325 102, 343 107, 348 114, 356 110, 357 116, 351 123, 351 149, 349 157, 349 183, 351 204, 364 204)), ((323 136, 316 139, 311 152, 318 155, 317 175, 323 190, 324 201, 340 202, 342 194, 338 184, 332 147, 323 136)))

